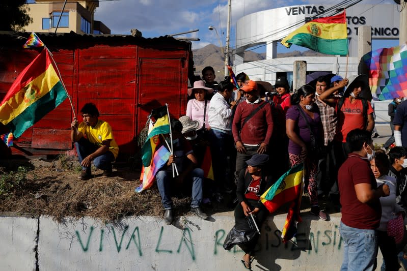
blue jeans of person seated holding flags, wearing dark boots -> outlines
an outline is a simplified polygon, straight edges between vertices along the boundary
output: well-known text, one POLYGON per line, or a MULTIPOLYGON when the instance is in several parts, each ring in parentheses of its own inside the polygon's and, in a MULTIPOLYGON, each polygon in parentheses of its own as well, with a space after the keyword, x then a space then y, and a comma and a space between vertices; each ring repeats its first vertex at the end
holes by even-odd
MULTIPOLYGON (((201 168, 196 168, 192 171, 192 201, 191 207, 199 207, 202 202, 202 180, 203 180, 203 170, 201 168)), ((155 175, 157 180, 158 191, 161 196, 161 203, 165 209, 172 209, 173 203, 171 199, 171 189, 172 189, 172 171, 171 167, 169 169, 161 169, 155 175)))

